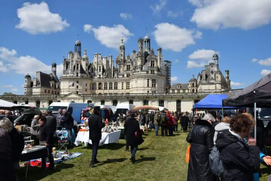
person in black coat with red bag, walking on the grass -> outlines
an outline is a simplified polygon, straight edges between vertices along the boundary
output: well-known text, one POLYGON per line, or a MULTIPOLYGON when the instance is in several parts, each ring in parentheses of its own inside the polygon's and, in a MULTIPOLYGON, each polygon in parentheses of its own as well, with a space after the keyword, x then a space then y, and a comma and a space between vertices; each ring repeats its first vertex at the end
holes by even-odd
POLYGON ((131 146, 131 157, 132 164, 135 164, 136 151, 138 145, 141 145, 144 140, 142 139, 142 133, 140 131, 139 123, 135 119, 135 114, 131 113, 131 117, 126 119, 124 123, 124 134, 126 138, 126 144, 131 146))

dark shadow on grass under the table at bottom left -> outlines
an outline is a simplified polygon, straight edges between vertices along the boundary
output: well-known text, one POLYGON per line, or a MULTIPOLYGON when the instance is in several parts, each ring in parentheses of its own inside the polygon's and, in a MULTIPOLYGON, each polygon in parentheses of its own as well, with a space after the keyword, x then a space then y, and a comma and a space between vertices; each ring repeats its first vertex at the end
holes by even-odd
POLYGON ((18 180, 20 181, 37 181, 53 173, 60 172, 62 169, 69 169, 73 167, 74 167, 73 164, 66 164, 66 163, 57 164, 54 170, 45 170, 45 169, 42 169, 41 167, 28 167, 26 178, 25 178, 26 167, 23 167, 17 170, 17 176, 18 176, 18 180))

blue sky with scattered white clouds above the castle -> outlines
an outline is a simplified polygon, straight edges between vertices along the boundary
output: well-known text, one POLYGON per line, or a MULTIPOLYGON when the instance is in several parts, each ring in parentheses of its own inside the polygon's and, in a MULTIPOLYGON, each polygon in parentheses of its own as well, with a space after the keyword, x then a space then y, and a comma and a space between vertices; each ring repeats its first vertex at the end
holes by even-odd
POLYGON ((270 0, 1 1, 0 94, 23 94, 24 76, 49 73, 54 61, 59 75, 77 34, 90 60, 115 59, 120 37, 130 54, 146 28, 151 48, 173 62, 174 83, 197 76, 216 52, 232 89, 244 88, 271 72, 270 12, 270 0))

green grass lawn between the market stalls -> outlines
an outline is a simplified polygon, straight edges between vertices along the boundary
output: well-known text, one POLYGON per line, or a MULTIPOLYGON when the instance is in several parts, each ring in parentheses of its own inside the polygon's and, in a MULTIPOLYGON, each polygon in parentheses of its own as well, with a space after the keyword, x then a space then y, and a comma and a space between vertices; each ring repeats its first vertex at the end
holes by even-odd
MULTIPOLYGON (((55 170, 44 171, 41 168, 29 168, 26 179, 26 168, 18 170, 20 181, 168 181, 187 180, 188 163, 185 162, 185 154, 188 143, 187 133, 175 133, 174 137, 154 136, 154 131, 146 133, 145 142, 139 146, 136 153, 138 163, 132 165, 129 160, 130 152, 124 151, 125 141, 99 147, 97 159, 101 161, 94 168, 89 167, 92 150, 77 147, 72 152, 81 152, 78 158, 62 162, 56 165, 55 170)), ((271 170, 262 166, 265 181, 271 170)))

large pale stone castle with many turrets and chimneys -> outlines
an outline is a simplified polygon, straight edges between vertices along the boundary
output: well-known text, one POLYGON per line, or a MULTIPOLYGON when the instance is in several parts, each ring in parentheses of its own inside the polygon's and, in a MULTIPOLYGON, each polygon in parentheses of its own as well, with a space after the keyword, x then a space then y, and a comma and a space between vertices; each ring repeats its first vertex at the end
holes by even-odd
POLYGON ((91 61, 84 49, 81 56, 81 42, 74 43, 74 52, 63 56, 63 72, 58 79, 56 63, 50 74, 37 72, 35 78, 25 76, 24 95, 0 96, 1 99, 17 104, 30 104, 46 108, 53 101, 95 103, 96 105, 117 105, 130 103, 136 106, 152 105, 167 107, 170 111, 191 111, 193 104, 210 93, 232 94, 229 70, 225 77, 218 64, 218 55, 188 83, 171 85, 171 62, 164 60, 162 49, 157 54, 151 49, 151 39, 139 37, 137 51, 126 55, 123 38, 119 53, 101 56, 95 53, 91 61))

